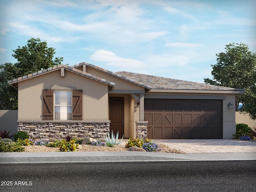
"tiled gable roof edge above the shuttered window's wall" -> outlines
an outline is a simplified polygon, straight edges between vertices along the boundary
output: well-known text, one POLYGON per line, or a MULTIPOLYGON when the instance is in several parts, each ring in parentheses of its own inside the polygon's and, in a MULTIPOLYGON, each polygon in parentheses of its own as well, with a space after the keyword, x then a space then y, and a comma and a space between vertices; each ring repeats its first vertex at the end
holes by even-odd
POLYGON ((72 67, 69 67, 69 66, 66 66, 66 65, 62 65, 62 64, 57 65, 57 66, 53 66, 53 67, 48 68, 48 69, 44 69, 42 71, 34 72, 32 74, 28 74, 28 75, 25 75, 25 76, 22 76, 22 77, 18 77, 16 79, 8 81, 8 84, 17 89, 18 88, 18 82, 20 82, 20 81, 27 80, 27 79, 33 78, 35 76, 40 76, 42 74, 46 74, 46 73, 49 73, 49 72, 52 72, 52 71, 60 70, 61 68, 64 68, 65 70, 68 70, 70 72, 74 72, 76 74, 79 74, 81 76, 85 76, 85 77, 90 78, 92 80, 102 82, 102 83, 107 84, 108 86, 111 86, 111 87, 115 86, 115 83, 113 83, 113 82, 110 82, 108 80, 102 79, 100 77, 94 76, 92 74, 89 74, 89 73, 77 70, 76 68, 72 68, 72 67))

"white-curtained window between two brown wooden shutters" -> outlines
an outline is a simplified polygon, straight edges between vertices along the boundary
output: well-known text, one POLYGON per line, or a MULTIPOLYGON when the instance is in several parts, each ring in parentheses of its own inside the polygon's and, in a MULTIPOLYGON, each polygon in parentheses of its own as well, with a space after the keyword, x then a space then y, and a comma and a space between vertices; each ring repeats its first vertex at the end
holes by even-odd
POLYGON ((72 91, 54 91, 54 119, 72 120, 72 91))

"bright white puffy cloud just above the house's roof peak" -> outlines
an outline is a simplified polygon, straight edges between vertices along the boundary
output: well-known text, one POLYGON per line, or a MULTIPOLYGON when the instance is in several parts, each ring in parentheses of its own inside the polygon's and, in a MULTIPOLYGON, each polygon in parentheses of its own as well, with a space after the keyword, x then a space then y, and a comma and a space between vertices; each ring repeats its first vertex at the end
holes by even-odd
POLYGON ((107 66, 117 70, 134 70, 134 68, 144 68, 146 64, 140 60, 135 60, 131 58, 123 58, 117 56, 115 53, 107 50, 97 50, 90 59, 96 62, 104 62, 107 66))

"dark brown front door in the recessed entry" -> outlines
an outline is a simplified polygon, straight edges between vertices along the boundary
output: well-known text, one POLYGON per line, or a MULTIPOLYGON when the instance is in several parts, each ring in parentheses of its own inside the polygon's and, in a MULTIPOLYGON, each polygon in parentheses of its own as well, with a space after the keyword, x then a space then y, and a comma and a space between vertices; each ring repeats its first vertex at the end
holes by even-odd
POLYGON ((109 98, 109 119, 110 119, 110 136, 113 133, 118 138, 124 135, 124 98, 123 97, 110 97, 109 98))

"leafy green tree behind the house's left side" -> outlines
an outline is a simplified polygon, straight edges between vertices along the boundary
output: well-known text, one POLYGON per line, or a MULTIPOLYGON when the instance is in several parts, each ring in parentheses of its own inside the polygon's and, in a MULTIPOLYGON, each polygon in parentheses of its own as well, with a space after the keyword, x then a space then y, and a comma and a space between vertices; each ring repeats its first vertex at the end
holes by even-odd
POLYGON ((0 109, 18 109, 18 92, 7 84, 8 80, 31 74, 61 64, 63 58, 54 58, 55 49, 48 48, 47 42, 31 38, 26 46, 13 50, 17 63, 0 65, 0 109))

